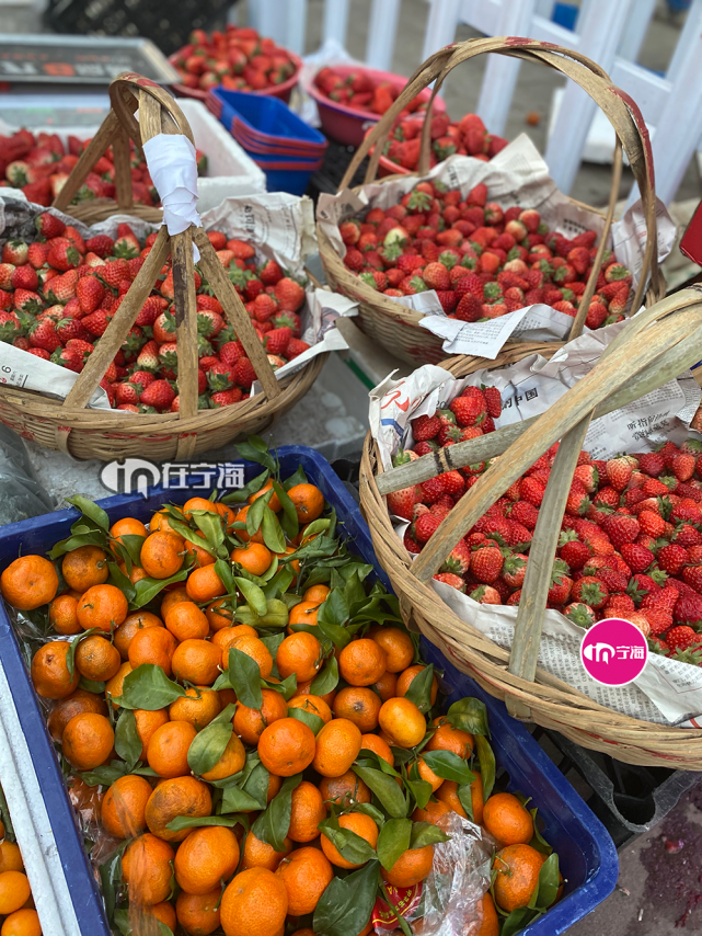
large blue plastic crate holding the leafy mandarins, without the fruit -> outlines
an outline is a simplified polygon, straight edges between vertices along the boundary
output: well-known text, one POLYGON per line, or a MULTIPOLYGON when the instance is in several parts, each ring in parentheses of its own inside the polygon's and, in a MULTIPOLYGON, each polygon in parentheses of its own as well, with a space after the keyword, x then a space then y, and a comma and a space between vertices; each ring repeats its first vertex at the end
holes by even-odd
MULTIPOLYGON (((279 448, 278 457, 284 477, 291 475, 299 466, 303 468, 310 481, 317 484, 325 499, 336 507, 340 521, 350 539, 349 548, 371 562, 377 577, 389 586, 387 575, 378 566, 368 526, 360 516, 358 505, 334 475, 326 459, 312 448, 294 445, 279 448)), ((246 480, 261 471, 258 465, 244 464, 246 480)), ((147 499, 138 494, 125 494, 106 498, 100 501, 100 505, 107 512, 111 522, 125 515, 146 521, 164 501, 184 503, 191 493, 193 492, 164 491, 156 487, 150 489, 147 499)), ((0 527, 0 568, 4 568, 18 557, 20 547, 23 555, 45 552, 54 543, 68 535, 77 517, 76 510, 58 511, 0 527)), ((475 696, 485 703, 498 768, 502 767, 509 774, 510 789, 525 791, 532 797, 533 806, 539 808, 539 814, 545 823, 543 834, 560 855, 566 886, 560 903, 522 932, 525 936, 559 936, 594 910, 614 889, 619 865, 612 840, 523 726, 509 718, 502 703, 486 695, 472 680, 458 672, 426 641, 424 653, 436 665, 446 670, 447 682, 452 688, 451 701, 462 696, 475 696)), ((0 660, 26 737, 81 934, 111 936, 102 899, 66 794, 54 746, 14 631, 1 603, 0 660)))

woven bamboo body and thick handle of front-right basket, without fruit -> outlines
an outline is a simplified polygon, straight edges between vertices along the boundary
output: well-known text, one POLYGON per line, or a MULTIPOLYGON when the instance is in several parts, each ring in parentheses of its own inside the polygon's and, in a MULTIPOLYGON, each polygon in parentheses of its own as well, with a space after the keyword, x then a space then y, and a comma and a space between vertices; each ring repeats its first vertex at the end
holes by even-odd
MULTIPOLYGON (((640 312, 610 343, 596 367, 544 414, 477 440, 439 449, 383 472, 370 434, 360 467, 361 510, 378 558, 400 597, 402 614, 464 673, 504 699, 511 715, 552 728, 584 747, 630 764, 702 771, 702 729, 641 721, 598 705, 537 666, 543 613, 565 501, 592 418, 605 415, 679 376, 702 353, 702 289, 691 287, 640 312), (640 333, 646 329, 646 341, 640 333), (431 578, 461 536, 523 471, 561 440, 529 553, 511 650, 461 620, 431 578), (414 561, 394 532, 388 493, 495 456, 414 561)), ((471 358, 445 362, 454 377, 471 358)), ((415 627, 415 629, 416 629, 415 627)))

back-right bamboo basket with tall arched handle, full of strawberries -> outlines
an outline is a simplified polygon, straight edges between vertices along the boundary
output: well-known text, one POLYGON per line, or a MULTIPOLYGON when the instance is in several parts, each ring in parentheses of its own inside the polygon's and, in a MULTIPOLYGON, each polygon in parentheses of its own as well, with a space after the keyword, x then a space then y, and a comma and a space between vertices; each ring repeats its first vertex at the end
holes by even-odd
MULTIPOLYGON (((531 41, 525 41, 519 48, 537 47, 540 59, 567 71, 596 101, 607 104, 618 138, 633 160, 632 169, 644 192, 648 235, 645 255, 637 263, 640 276, 632 284, 622 258, 609 248, 619 191, 617 173, 610 209, 603 217, 601 212, 586 209, 563 196, 551 180, 541 187, 536 175, 544 181, 548 170, 523 138, 502 149, 488 163, 454 153, 429 170, 429 134, 416 173, 371 182, 355 189, 353 196, 345 192, 372 148, 369 179, 373 179, 402 109, 419 89, 434 79, 440 85, 459 61, 483 52, 509 55, 516 48, 499 39, 451 46, 445 50, 444 60, 435 57, 430 68, 418 70, 364 140, 340 184, 340 193, 322 196, 318 207, 318 239, 327 282, 359 303, 364 331, 403 361, 438 364, 446 357, 442 338, 422 327, 427 309, 431 317, 449 316, 467 324, 479 322, 473 327, 480 328, 481 320, 499 318, 530 305, 555 307, 550 333, 556 339, 565 336, 568 329, 567 319, 560 318, 559 312, 573 318, 572 326, 578 322, 579 327, 589 317, 588 326, 597 328, 609 316, 619 316, 628 305, 638 309, 647 288, 648 300, 665 293, 653 249, 655 202, 640 115, 620 98, 609 107, 609 85, 597 75, 594 64, 583 60, 577 69, 566 67, 567 50, 545 50, 531 41), (534 170, 538 161, 539 171, 534 176, 521 176, 520 187, 516 179, 523 158, 533 160, 534 170), (519 207, 515 205, 515 192, 519 207), (633 298, 629 288, 632 285, 633 298), (423 293, 431 295, 417 300, 417 294, 423 293)), ((484 146, 486 136, 479 128, 481 133, 484 146)), ((553 350, 556 347, 554 341, 553 350)), ((528 342, 518 338, 505 346, 511 359, 514 354, 530 350, 528 342)), ((483 366, 480 358, 476 362, 483 366)))

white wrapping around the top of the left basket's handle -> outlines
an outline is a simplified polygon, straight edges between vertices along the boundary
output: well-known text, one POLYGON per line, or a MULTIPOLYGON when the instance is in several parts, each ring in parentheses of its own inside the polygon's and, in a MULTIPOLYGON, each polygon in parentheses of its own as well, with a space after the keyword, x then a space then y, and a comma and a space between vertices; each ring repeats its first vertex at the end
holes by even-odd
MULTIPOLYGON (((183 134, 158 134, 143 144, 151 181, 163 205, 163 224, 171 236, 191 225, 200 226, 197 213, 197 156, 183 134)), ((193 244, 193 259, 199 251, 193 244)))

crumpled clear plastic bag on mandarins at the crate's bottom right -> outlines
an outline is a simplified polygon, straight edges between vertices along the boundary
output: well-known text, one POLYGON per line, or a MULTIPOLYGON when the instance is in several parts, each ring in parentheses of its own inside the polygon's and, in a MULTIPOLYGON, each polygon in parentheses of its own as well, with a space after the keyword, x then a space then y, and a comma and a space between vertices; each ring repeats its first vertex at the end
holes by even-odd
POLYGON ((415 936, 476 936, 495 844, 456 812, 441 815, 437 824, 451 837, 434 846, 434 865, 424 882, 424 916, 412 929, 415 936))

